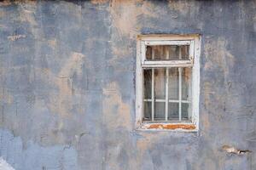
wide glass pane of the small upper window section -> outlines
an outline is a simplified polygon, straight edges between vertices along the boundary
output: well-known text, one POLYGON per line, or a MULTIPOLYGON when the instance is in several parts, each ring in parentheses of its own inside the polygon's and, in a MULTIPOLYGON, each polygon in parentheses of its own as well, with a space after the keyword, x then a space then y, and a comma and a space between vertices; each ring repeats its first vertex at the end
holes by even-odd
POLYGON ((147 60, 188 60, 189 45, 156 45, 147 46, 147 60))

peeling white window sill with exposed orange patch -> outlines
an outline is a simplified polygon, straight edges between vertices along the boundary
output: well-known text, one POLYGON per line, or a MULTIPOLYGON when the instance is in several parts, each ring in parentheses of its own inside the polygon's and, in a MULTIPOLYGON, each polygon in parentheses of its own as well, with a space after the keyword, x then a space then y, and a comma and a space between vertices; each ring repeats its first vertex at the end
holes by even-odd
POLYGON ((198 129, 193 123, 147 123, 143 122, 137 130, 159 130, 159 131, 182 131, 197 132, 198 129))

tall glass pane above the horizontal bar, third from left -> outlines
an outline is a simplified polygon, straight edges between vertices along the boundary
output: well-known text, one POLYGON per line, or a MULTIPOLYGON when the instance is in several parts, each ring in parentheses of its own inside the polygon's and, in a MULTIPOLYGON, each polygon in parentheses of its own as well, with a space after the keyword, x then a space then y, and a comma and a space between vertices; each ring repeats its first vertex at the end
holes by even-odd
POLYGON ((169 69, 169 99, 178 99, 178 68, 169 69))

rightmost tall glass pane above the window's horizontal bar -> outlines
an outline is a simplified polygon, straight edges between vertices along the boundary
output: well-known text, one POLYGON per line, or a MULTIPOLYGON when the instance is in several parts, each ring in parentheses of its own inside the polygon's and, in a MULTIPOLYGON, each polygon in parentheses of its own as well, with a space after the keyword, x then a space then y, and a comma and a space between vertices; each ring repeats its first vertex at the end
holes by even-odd
POLYGON ((182 71, 182 99, 190 100, 191 95, 191 68, 182 71))

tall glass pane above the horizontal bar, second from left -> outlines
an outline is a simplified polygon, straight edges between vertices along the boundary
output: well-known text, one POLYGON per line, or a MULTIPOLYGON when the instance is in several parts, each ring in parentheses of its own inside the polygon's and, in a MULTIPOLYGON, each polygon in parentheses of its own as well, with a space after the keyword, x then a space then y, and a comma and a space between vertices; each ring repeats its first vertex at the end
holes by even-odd
POLYGON ((154 69, 154 98, 166 99, 166 69, 154 69))

